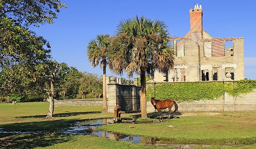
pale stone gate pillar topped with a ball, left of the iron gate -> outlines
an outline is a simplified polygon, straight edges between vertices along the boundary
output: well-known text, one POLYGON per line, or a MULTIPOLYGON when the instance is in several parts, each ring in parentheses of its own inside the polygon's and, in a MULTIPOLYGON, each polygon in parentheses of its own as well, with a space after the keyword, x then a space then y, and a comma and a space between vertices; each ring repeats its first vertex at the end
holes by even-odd
POLYGON ((115 82, 115 77, 110 78, 111 82, 108 83, 108 112, 114 113, 114 108, 116 106, 116 101, 118 100, 118 86, 119 84, 115 82))

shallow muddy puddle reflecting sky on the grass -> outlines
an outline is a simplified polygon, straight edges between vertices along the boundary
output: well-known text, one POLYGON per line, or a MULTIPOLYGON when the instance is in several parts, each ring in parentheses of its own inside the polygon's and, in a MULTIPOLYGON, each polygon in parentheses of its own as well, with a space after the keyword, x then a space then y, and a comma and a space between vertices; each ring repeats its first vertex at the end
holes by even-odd
MULTIPOLYGON (((135 123, 134 118, 122 118, 123 123, 135 123)), ((146 138, 144 136, 129 136, 125 134, 112 133, 106 131, 97 131, 96 127, 103 125, 114 124, 113 118, 109 119, 95 119, 95 120, 86 120, 86 121, 76 121, 68 128, 60 130, 60 133, 65 134, 82 134, 82 135, 92 135, 103 137, 105 139, 115 139, 117 141, 131 142, 134 144, 144 144, 144 145, 153 145, 156 147, 175 147, 181 149, 194 149, 195 147, 208 147, 208 145, 194 145, 194 144, 173 144, 171 140, 168 139, 158 139, 158 138, 146 138), (170 143, 168 143, 170 142, 170 143)), ((12 134, 23 134, 23 133, 35 133, 42 131, 3 131, 3 128, 0 128, 0 133, 12 133, 12 134)))

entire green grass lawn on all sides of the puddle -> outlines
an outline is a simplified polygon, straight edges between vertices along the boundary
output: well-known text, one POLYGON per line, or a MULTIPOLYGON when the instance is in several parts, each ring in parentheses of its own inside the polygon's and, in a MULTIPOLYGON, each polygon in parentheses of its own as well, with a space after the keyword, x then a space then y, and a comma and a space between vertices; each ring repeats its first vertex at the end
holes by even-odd
MULTIPOLYGON (((48 120, 44 119, 48 108, 49 102, 0 104, 2 131, 44 131, 32 134, 0 133, 0 148, 158 148, 101 137, 60 134, 56 130, 68 127, 74 121, 112 118, 113 114, 101 112, 102 106, 58 106, 54 110, 55 119, 48 120)), ((149 118, 157 115, 148 114, 149 118)), ((151 137, 156 137, 166 138, 174 144, 212 144, 208 148, 256 148, 256 112, 191 112, 185 113, 185 116, 173 116, 165 123, 113 124, 98 129, 143 135, 148 137, 147 144, 151 143, 151 137)), ((165 143, 165 140, 160 142, 165 143)))

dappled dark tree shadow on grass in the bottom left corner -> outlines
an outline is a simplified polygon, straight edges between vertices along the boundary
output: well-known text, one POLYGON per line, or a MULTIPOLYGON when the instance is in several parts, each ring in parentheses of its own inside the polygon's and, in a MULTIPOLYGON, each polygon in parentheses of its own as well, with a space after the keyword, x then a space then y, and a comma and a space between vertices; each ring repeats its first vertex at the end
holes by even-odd
POLYGON ((15 134, 0 139, 0 148, 34 148, 47 147, 54 144, 68 142, 72 139, 69 134, 34 133, 15 134))

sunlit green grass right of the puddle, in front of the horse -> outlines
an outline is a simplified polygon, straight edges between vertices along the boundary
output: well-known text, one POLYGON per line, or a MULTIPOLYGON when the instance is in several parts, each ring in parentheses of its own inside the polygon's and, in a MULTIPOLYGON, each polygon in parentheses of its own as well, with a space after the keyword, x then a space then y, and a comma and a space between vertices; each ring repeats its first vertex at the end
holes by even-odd
POLYGON ((115 124, 98 129, 135 136, 171 139, 181 144, 255 144, 256 112, 220 112, 219 115, 177 116, 164 123, 115 124), (226 116, 224 116, 226 115, 226 116), (239 118, 227 115, 242 115, 239 118), (168 126, 174 127, 168 127, 168 126), (135 128, 129 129, 129 126, 135 128))

